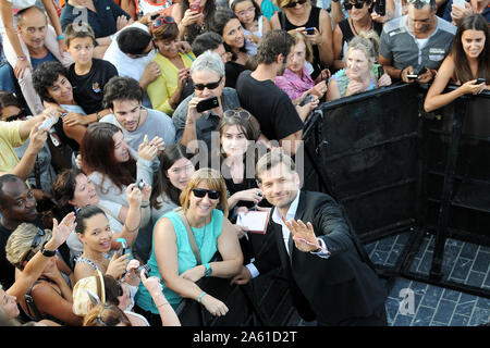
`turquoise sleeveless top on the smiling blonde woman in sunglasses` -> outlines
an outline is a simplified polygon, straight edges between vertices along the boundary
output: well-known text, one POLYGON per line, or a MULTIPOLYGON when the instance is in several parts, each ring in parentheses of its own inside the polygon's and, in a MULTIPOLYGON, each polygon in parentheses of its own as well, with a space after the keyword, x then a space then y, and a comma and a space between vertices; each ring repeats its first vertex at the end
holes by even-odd
MULTIPOLYGON (((175 211, 168 212, 160 219, 167 217, 171 221, 173 228, 175 231, 176 237, 176 246, 177 246, 177 263, 179 263, 179 274, 184 273, 188 269, 192 269, 197 265, 196 258, 191 248, 191 244, 187 238, 187 231, 185 229, 184 224, 179 217, 175 211)), ((159 219, 159 220, 160 220, 159 219)), ((157 226, 157 224, 155 224, 157 226)), ((201 263, 209 262, 215 253, 218 251, 218 238, 221 235, 221 228, 223 226, 223 212, 215 209, 211 212, 211 221, 209 224, 205 225, 201 228, 191 227, 194 237, 196 238, 197 247, 200 251, 200 260, 201 263)), ((155 228, 154 228, 155 235, 155 228)), ((163 279, 161 278, 160 271, 158 270, 157 257, 155 253, 155 239, 154 245, 151 247, 151 256, 148 260, 148 265, 151 268, 150 276, 157 276, 160 278, 160 284, 163 287, 163 295, 166 296, 169 303, 175 309, 182 300, 177 294, 169 289, 163 279)), ((136 294, 136 304, 139 306, 145 311, 149 311, 154 314, 158 314, 158 309, 155 306, 155 302, 151 298, 151 295, 148 293, 146 287, 140 283, 139 289, 136 294)))

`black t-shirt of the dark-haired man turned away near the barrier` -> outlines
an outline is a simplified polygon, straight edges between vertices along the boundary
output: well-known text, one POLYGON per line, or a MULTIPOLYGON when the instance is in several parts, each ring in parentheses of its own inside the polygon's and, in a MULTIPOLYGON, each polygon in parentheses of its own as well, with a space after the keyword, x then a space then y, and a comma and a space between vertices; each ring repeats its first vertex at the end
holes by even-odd
POLYGON ((271 80, 257 80, 250 71, 243 72, 236 82, 242 108, 259 122, 260 132, 269 140, 281 140, 303 129, 303 121, 291 98, 271 80))

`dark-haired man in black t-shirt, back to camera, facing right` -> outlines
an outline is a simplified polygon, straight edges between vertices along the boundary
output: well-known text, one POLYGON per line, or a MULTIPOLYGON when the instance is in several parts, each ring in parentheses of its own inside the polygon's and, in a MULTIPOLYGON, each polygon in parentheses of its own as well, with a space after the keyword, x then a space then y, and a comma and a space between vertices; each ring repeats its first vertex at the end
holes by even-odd
POLYGON ((318 98, 313 97, 305 105, 295 107, 290 97, 274 85, 275 76, 282 75, 290 64, 293 47, 294 38, 287 32, 268 32, 257 48, 256 70, 243 72, 236 82, 240 103, 257 117, 264 136, 278 140, 292 156, 303 138, 304 122, 318 105, 318 98))

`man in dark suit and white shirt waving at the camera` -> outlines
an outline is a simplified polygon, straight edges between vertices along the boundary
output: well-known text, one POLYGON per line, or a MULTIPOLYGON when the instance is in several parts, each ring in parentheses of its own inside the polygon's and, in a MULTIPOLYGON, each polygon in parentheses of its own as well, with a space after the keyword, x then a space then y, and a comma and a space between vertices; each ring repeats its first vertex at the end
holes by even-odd
POLYGON ((274 207, 267 233, 274 234, 277 243, 232 282, 246 284, 282 265, 293 303, 306 321, 387 325, 387 289, 336 202, 326 194, 299 190, 294 162, 280 151, 264 156, 256 174, 274 207))

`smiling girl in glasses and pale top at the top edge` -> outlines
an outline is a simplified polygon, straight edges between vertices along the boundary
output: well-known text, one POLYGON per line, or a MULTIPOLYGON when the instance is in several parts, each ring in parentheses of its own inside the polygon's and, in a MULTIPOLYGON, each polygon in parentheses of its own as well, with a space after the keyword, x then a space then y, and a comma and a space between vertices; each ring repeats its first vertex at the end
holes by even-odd
POLYGON ((260 5, 255 0, 234 0, 231 3, 231 10, 244 26, 247 54, 257 54, 258 41, 270 30, 269 20, 262 15, 260 5))

